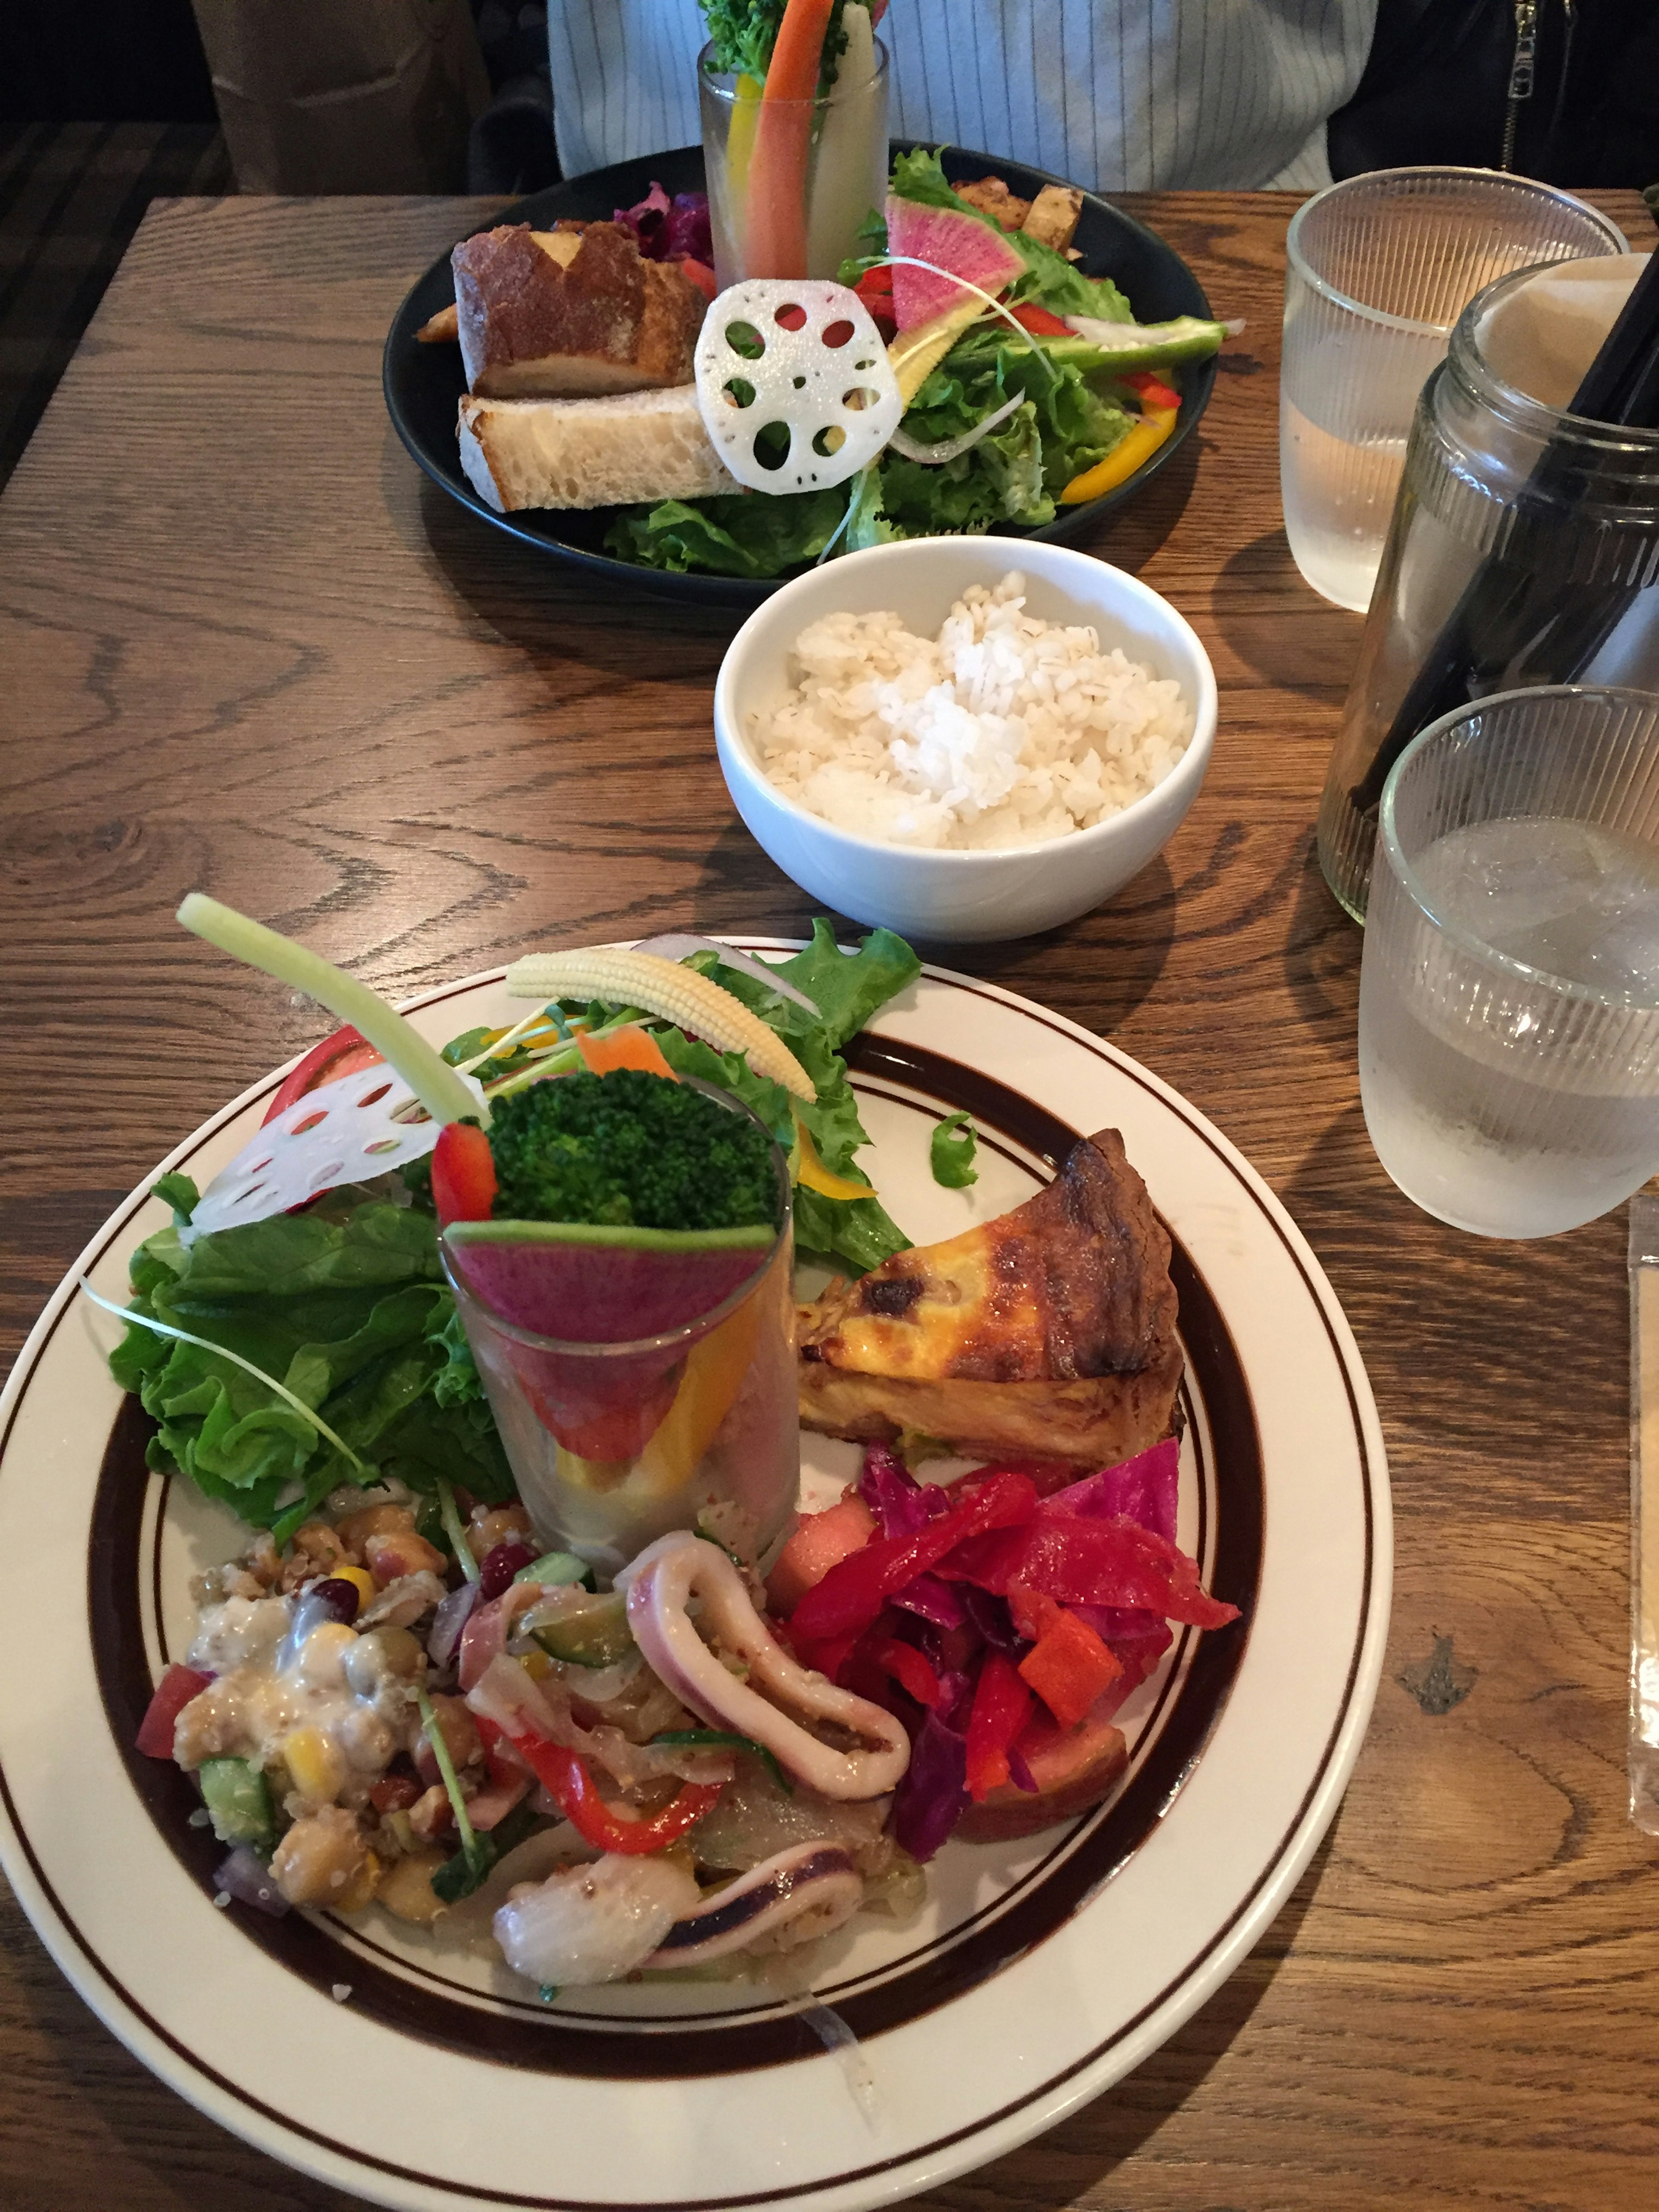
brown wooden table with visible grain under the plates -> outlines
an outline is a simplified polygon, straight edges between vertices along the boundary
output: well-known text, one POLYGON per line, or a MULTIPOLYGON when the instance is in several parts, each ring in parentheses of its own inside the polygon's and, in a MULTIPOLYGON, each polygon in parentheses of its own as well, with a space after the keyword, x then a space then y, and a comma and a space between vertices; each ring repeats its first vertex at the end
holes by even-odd
MULTIPOLYGON (((1635 195, 1595 197, 1648 237, 1635 195)), ((1312 1239, 1387 1429, 1394 1637, 1347 1803, 1261 1949, 1137 2075, 938 2201, 1637 2212, 1659 1860, 1624 1809, 1624 1217, 1482 1243, 1371 1155, 1360 938, 1312 836, 1360 624, 1279 524, 1294 201, 1133 206, 1250 323, 1201 436, 1097 546, 1197 624, 1214 765, 1124 896, 953 960, 1177 1084, 1312 1239)), ((732 622, 595 593, 392 436, 385 325, 482 212, 157 206, 0 502, 7 1349, 135 1179, 316 1035, 175 929, 186 889, 392 993, 526 945, 812 911, 714 763, 732 622)), ((347 2205, 153 2081, 0 1913, 9 2212, 347 2205)))

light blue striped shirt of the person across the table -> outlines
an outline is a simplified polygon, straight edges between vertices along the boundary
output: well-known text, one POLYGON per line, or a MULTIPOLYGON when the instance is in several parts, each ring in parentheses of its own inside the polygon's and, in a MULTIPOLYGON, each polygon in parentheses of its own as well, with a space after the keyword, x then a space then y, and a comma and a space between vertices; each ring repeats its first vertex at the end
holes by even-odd
MULTIPOLYGON (((891 131, 1104 192, 1329 184, 1378 0, 894 0, 891 131)), ((566 177, 692 146, 697 0, 549 0, 566 177)))

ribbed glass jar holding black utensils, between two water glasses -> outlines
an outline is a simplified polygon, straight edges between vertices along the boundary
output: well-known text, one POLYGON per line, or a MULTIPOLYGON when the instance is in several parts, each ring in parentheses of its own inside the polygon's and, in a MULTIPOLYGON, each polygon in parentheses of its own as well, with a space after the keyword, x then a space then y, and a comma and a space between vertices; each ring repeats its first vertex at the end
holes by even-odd
POLYGON ((1590 422, 1498 372, 1511 296, 1537 274, 1469 303, 1411 422, 1318 810, 1318 865, 1360 922, 1383 783, 1418 730, 1542 684, 1659 690, 1659 431, 1590 422))

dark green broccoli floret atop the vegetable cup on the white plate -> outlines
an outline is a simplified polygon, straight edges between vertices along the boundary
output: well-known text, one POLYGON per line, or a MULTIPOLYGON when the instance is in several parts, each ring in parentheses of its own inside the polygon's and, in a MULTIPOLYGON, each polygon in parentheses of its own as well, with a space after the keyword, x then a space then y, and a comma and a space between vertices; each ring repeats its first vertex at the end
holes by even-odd
POLYGON ((726 1230, 776 1221, 772 1139, 690 1084, 562 1075, 495 1102, 498 1221, 726 1230))

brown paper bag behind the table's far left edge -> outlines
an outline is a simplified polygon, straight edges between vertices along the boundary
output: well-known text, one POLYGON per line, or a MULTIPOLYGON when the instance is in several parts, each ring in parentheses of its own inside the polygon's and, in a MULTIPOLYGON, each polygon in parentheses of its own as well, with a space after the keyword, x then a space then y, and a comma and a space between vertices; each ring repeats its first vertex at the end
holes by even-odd
POLYGON ((243 192, 460 192, 489 104, 467 0, 192 0, 243 192))

